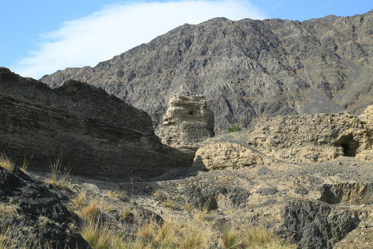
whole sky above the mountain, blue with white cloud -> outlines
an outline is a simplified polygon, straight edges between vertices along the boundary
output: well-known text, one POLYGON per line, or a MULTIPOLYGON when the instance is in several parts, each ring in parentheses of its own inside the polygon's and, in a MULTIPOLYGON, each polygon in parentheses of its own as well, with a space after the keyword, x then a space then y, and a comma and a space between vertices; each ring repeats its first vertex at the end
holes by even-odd
POLYGON ((372 0, 2 0, 0 66, 40 78, 95 66, 182 24, 213 17, 304 21, 363 14, 372 0))

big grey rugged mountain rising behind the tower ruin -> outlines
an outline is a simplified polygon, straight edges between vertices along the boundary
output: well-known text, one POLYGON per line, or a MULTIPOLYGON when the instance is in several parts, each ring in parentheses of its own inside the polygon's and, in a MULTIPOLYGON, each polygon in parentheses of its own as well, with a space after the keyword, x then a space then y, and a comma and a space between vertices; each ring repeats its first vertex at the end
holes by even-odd
POLYGON ((373 103, 372 16, 185 24, 93 68, 41 81, 99 86, 149 113, 155 127, 171 93, 206 95, 216 133, 260 116, 360 113, 373 103))

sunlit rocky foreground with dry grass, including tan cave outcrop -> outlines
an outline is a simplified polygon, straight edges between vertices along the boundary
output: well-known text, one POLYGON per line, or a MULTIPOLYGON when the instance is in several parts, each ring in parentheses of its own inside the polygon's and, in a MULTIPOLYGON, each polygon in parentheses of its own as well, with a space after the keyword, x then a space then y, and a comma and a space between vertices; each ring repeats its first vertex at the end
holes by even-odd
POLYGON ((194 167, 151 179, 68 176, 61 188, 46 170, 0 168, 0 238, 14 248, 371 249, 372 112, 263 118, 201 142, 194 167), (266 231, 271 247, 250 243, 266 231))

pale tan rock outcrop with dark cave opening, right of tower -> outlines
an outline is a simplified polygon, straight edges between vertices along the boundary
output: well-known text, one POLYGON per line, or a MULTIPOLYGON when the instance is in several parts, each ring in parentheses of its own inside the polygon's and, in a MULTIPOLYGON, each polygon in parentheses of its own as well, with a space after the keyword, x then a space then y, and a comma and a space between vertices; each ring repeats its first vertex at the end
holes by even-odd
POLYGON ((321 113, 264 118, 252 131, 229 133, 202 142, 194 165, 218 169, 272 159, 325 162, 339 156, 372 162, 371 110, 372 106, 368 107, 362 116, 321 113))

